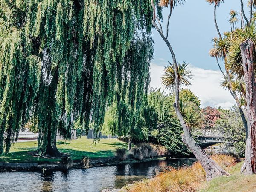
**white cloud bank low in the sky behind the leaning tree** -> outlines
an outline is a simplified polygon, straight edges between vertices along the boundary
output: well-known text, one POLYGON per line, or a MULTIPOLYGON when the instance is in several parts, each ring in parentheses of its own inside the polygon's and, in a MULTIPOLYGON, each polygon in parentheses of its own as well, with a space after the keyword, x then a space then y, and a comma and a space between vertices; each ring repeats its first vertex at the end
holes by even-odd
MULTIPOLYGON (((221 72, 213 70, 205 70, 192 65, 189 65, 192 70, 193 79, 192 86, 189 87, 192 92, 201 100, 201 106, 212 106, 224 109, 230 109, 235 104, 233 97, 225 89, 220 87, 222 78, 221 72)), ((161 88, 161 75, 164 66, 159 66, 151 63, 151 82, 150 86, 154 88, 161 88)), ((163 88, 161 88, 164 90, 163 88)), ((166 93, 170 92, 165 90, 166 93)))

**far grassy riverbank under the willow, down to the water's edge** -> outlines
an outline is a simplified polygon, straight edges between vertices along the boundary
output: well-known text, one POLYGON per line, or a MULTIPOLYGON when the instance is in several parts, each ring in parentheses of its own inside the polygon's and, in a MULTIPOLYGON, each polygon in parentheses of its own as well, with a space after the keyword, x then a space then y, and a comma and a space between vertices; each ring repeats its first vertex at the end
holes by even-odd
MULTIPOLYGON (((0 171, 40 171, 40 170, 62 170, 66 169, 60 158, 40 157, 35 154, 37 143, 29 141, 15 143, 9 154, 0 156, 0 171)), ((128 143, 117 139, 101 139, 98 143, 93 143, 93 139, 81 137, 77 140, 65 142, 57 141, 60 152, 71 157, 72 162, 69 169, 90 168, 97 166, 114 166, 120 164, 140 163, 155 160, 172 159, 167 157, 154 157, 137 160, 133 155, 128 155, 124 161, 115 157, 115 151, 119 147, 127 148, 128 143), (84 167, 81 163, 82 157, 88 157, 89 166, 84 167)))

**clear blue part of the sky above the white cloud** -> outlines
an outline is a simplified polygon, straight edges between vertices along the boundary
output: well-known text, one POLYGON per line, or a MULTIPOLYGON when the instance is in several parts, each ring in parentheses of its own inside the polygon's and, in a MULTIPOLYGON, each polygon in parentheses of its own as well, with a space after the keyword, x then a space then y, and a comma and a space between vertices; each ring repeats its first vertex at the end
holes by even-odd
MULTIPOLYGON (((247 2, 244 2, 245 11, 248 11, 246 5, 247 2)), ((225 3, 217 7, 217 23, 221 32, 230 30, 228 23, 230 9, 240 12, 240 0, 225 0, 225 3)), ((164 8, 164 21, 168 14, 169 8, 164 8)), ((163 26, 165 28, 166 24, 164 23, 163 26)), ((213 6, 205 0, 186 0, 183 6, 177 6, 173 10, 169 40, 179 62, 186 61, 196 67, 217 70, 215 59, 208 55, 212 47, 211 40, 217 35, 213 20, 213 6)), ((153 39, 155 42, 153 62, 165 65, 164 60, 172 60, 169 50, 156 31, 153 32, 153 39)))

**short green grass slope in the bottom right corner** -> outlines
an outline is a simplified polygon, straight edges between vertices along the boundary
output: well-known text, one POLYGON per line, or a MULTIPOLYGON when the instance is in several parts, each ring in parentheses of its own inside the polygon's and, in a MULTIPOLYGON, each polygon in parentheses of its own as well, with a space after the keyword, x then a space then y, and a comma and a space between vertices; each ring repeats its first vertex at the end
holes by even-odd
POLYGON ((243 162, 228 169, 230 177, 215 178, 201 186, 201 192, 252 192, 256 191, 256 175, 244 176, 240 173, 243 162))

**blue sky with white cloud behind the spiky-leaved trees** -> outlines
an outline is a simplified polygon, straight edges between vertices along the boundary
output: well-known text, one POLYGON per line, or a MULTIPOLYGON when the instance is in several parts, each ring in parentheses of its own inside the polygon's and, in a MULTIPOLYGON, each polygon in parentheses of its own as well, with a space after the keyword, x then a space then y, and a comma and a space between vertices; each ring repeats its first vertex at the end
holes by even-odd
MULTIPOLYGON (((240 12, 240 0, 225 0, 217 7, 217 23, 220 32, 230 31, 228 13, 233 9, 240 12)), ((186 0, 172 12, 169 26, 169 41, 174 49, 178 62, 186 61, 193 73, 192 86, 189 87, 201 100, 201 107, 212 106, 230 109, 235 104, 230 92, 220 87, 222 79, 215 58, 209 57, 212 38, 217 37, 213 20, 213 6, 205 0, 186 0), (196 2, 196 3, 195 3, 196 2)), ((247 1, 244 0, 244 11, 248 15, 247 1)), ((163 31, 166 31, 166 18, 169 9, 163 8, 163 31)), ((239 17, 240 18, 240 17, 239 17)), ((239 21, 238 27, 241 26, 239 21)), ((154 88, 161 88, 161 75, 164 66, 172 61, 168 47, 160 34, 153 31, 154 59, 151 61, 151 83, 154 88)), ((223 61, 220 61, 224 69, 223 61)), ((165 90, 165 92, 169 92, 165 90)))

